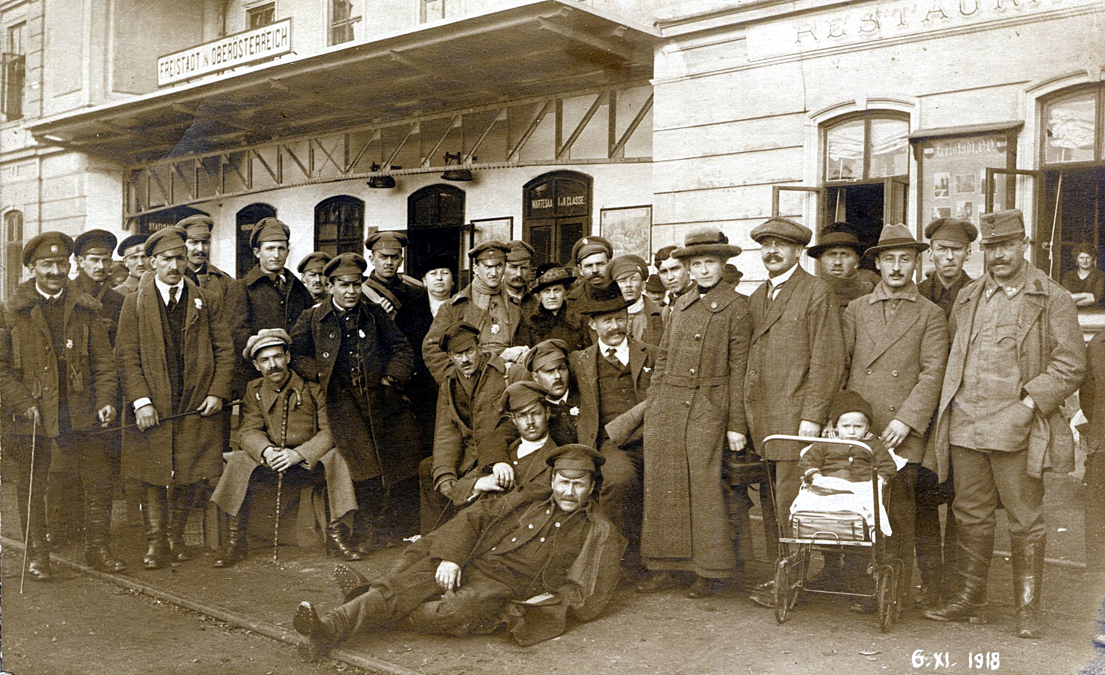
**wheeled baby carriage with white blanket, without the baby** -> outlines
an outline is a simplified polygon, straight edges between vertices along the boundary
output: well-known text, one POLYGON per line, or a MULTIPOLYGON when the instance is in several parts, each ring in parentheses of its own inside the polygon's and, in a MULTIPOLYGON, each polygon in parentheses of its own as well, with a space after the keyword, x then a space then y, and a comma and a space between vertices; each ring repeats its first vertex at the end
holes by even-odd
MULTIPOLYGON (((783 434, 770 435, 764 439, 765 447, 775 441, 799 441, 802 443, 824 442, 827 439, 807 436, 790 436, 783 434)), ((833 439, 832 443, 853 445, 873 454, 871 447, 862 441, 833 439)), ((765 453, 766 454, 766 453, 765 453)), ((765 463, 767 460, 765 460, 765 463)), ((886 551, 886 537, 883 528, 881 505, 883 492, 875 479, 875 462, 871 463, 871 485, 874 506, 865 518, 863 514, 851 510, 813 511, 797 510, 790 515, 790 537, 779 537, 778 558, 775 563, 775 619, 779 623, 787 620, 787 613, 798 602, 799 591, 808 593, 824 593, 851 595, 853 598, 872 598, 877 602, 878 624, 886 632, 902 611, 898 604, 898 577, 902 574, 902 561, 890 558, 886 551), (814 550, 825 553, 857 552, 870 549, 871 556, 866 573, 874 582, 871 593, 820 590, 807 586, 806 574, 810 569, 810 557, 814 550)), ((769 482, 770 484, 770 482, 769 482)), ((771 486, 772 499, 775 498, 771 486)))

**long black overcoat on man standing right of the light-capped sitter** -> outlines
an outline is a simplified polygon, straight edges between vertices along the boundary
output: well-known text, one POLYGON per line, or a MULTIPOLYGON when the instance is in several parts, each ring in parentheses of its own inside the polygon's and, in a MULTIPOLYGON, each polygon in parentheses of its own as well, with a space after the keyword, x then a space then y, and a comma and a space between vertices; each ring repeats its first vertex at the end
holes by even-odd
POLYGON ((341 346, 341 326, 333 302, 309 307, 292 329, 292 367, 305 380, 318 382, 326 393, 327 412, 334 420, 330 425, 334 444, 346 455, 354 479, 367 477, 361 473, 364 467, 357 452, 372 447, 383 484, 390 485, 418 475, 418 463, 423 456, 410 402, 400 391, 411 379, 414 356, 407 338, 379 305, 362 296, 352 310, 357 313, 361 334, 354 358, 360 361, 366 384, 372 437, 361 437, 359 424, 340 422, 343 415, 360 413, 352 402, 336 398, 330 387, 341 346), (385 376, 394 380, 398 389, 383 386, 385 376))

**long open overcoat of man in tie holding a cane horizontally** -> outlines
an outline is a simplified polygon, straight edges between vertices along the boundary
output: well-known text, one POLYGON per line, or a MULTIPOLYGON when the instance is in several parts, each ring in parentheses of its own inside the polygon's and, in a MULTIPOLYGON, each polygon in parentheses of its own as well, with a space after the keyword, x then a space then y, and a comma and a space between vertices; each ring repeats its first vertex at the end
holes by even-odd
MULTIPOLYGON (((229 401, 234 348, 222 308, 186 276, 183 389, 178 409, 172 409, 168 360, 176 357, 166 352, 160 309, 164 303, 155 278, 154 273, 143 276, 138 291, 126 297, 119 315, 115 359, 123 373, 124 410, 148 398, 158 415, 165 418, 196 410, 209 395, 229 401)), ((133 412, 127 413, 125 419, 133 420, 133 412)), ((215 478, 222 473, 222 453, 229 442, 223 429, 219 414, 188 415, 146 431, 128 429, 123 436, 123 475, 150 485, 189 485, 215 478)))

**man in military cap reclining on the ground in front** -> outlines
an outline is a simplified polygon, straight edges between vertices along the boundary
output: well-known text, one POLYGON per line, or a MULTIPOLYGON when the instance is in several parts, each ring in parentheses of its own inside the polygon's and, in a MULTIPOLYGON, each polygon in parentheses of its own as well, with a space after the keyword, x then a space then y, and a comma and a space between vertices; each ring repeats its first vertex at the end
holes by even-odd
POLYGON ((367 590, 324 616, 299 603, 293 625, 307 637, 309 655, 397 623, 460 636, 508 622, 514 639, 530 645, 564 633, 569 614, 594 619, 617 588, 625 547, 591 506, 602 455, 565 445, 546 463, 551 495, 520 489, 484 499, 412 544, 382 578, 359 580, 367 590))

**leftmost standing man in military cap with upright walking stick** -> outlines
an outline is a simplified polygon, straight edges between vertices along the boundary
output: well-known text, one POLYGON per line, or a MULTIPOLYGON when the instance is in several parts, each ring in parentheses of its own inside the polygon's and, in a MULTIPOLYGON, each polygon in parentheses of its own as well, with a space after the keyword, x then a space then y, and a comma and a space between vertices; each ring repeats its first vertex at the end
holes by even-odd
POLYGON ((15 484, 21 518, 30 500, 27 571, 39 581, 51 576, 44 500, 51 441, 76 464, 84 487, 85 562, 105 572, 126 569, 108 550, 117 457, 88 436, 115 419, 115 360, 99 302, 69 281, 73 250, 61 232, 27 242, 23 266, 34 278, 15 288, 0 320, 0 401, 6 436, 14 437, 4 445, 4 476, 15 484))

